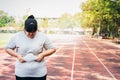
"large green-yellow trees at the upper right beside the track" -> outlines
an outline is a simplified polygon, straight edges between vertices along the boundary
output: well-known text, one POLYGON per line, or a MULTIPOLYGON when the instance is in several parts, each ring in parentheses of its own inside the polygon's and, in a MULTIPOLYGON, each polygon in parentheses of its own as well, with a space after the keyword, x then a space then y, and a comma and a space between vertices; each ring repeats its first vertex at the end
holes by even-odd
POLYGON ((117 37, 120 26, 120 0, 87 0, 82 4, 82 10, 83 27, 100 28, 94 29, 99 35, 112 33, 117 37))

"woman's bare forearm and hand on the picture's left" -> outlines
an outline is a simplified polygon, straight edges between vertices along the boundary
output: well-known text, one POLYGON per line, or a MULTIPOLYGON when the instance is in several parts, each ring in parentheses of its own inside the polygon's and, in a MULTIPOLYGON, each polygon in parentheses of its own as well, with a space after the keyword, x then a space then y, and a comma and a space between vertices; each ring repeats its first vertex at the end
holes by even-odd
POLYGON ((21 63, 25 62, 25 60, 21 57, 21 55, 17 54, 13 49, 5 49, 5 51, 6 51, 9 55, 17 58, 21 63))

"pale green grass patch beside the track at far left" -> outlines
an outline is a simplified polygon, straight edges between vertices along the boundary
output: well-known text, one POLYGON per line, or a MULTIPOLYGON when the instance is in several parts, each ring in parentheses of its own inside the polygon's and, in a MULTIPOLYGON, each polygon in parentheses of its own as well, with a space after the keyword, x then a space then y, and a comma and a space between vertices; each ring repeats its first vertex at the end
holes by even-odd
POLYGON ((13 33, 0 33, 0 48, 5 47, 12 35, 13 33))

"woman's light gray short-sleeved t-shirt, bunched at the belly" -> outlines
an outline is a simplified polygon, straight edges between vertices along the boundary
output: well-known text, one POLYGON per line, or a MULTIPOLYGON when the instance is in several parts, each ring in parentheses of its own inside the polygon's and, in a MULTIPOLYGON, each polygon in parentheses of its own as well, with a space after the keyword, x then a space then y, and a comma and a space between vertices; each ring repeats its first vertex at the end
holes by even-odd
POLYGON ((42 77, 47 74, 46 62, 44 60, 36 62, 34 53, 42 52, 43 49, 54 49, 55 46, 41 32, 37 32, 35 37, 30 39, 25 35, 24 31, 21 31, 11 38, 6 48, 15 49, 18 54, 28 59, 25 63, 16 60, 15 75, 20 77, 42 77))

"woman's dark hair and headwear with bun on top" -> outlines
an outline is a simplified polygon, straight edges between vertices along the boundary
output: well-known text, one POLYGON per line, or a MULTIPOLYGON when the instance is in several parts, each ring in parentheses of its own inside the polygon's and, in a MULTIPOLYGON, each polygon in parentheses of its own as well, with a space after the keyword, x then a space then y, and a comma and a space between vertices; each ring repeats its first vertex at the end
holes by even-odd
POLYGON ((33 15, 28 16, 28 18, 25 20, 25 27, 24 29, 27 32, 36 32, 37 31, 37 21, 34 18, 33 15))

